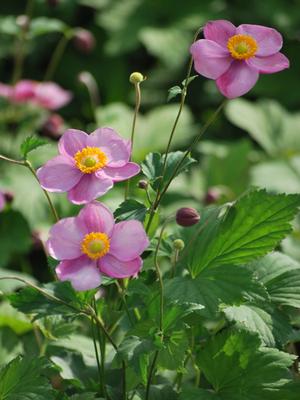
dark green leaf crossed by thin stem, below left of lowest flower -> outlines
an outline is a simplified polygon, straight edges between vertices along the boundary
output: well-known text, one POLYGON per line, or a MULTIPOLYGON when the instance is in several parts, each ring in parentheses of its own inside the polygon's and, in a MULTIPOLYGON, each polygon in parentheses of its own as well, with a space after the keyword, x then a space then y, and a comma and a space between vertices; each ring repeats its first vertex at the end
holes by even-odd
POLYGON ((8 296, 11 305, 27 314, 36 314, 35 319, 48 315, 77 315, 84 306, 80 294, 76 294, 70 282, 53 282, 41 287, 42 294, 32 287, 25 287, 8 296), (53 299, 53 296, 65 304, 53 299))

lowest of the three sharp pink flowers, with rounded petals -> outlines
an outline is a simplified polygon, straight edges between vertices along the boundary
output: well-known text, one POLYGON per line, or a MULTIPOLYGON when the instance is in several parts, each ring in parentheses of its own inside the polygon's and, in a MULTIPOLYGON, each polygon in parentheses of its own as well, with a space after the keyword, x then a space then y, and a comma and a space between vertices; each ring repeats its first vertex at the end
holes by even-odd
POLYGON ((101 274, 113 278, 135 275, 148 245, 139 221, 115 224, 110 210, 98 201, 83 207, 77 217, 57 222, 46 243, 51 257, 61 261, 56 268, 58 278, 71 281, 76 290, 98 287, 101 274))

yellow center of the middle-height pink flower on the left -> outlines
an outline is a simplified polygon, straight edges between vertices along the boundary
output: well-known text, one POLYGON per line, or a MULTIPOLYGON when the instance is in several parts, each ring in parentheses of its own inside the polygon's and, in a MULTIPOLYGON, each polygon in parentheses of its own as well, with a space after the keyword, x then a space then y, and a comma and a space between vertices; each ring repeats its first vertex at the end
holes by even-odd
POLYGON ((107 164, 107 156, 98 147, 85 147, 74 155, 76 167, 84 174, 91 174, 107 164))

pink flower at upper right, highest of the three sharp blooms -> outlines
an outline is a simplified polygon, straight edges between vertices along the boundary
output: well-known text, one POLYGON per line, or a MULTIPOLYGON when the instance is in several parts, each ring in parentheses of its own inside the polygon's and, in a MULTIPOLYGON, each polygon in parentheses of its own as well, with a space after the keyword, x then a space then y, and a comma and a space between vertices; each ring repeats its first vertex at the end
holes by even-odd
POLYGON ((240 25, 210 21, 204 27, 205 39, 191 46, 195 69, 216 80, 220 92, 229 99, 242 96, 256 84, 259 74, 272 74, 289 67, 279 50, 282 36, 261 25, 240 25))

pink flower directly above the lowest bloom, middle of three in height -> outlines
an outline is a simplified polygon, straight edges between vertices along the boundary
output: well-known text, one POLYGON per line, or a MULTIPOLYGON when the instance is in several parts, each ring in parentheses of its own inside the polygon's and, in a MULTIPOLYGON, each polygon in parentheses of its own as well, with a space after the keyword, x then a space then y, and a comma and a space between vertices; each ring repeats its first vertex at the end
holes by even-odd
POLYGON ((75 204, 89 203, 104 195, 114 182, 136 175, 140 167, 129 162, 130 141, 111 128, 90 135, 68 129, 58 143, 60 155, 37 172, 41 186, 49 192, 68 192, 75 204))

